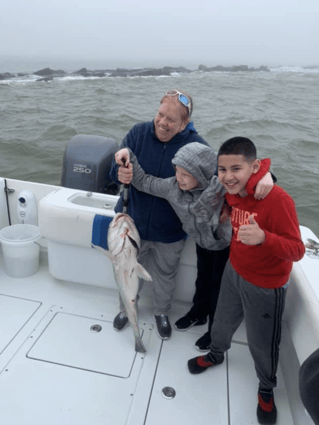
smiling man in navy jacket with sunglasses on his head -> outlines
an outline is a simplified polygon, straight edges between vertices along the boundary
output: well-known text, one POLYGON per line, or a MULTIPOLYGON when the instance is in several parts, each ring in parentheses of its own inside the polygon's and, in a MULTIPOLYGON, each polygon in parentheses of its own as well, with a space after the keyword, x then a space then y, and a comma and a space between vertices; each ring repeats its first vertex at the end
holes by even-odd
MULTIPOLYGON (((124 137, 120 148, 128 147, 136 155, 145 173, 167 178, 175 174, 172 159, 182 146, 199 142, 208 143, 190 122, 193 102, 178 90, 168 90, 162 97, 153 121, 136 124, 124 137)), ((116 183, 129 183, 132 165, 119 167, 113 160, 111 178, 116 183)), ((115 211, 122 211, 122 196, 115 211)), ((172 328, 168 311, 175 289, 179 259, 184 248, 186 233, 170 204, 130 187, 128 214, 133 218, 141 238, 138 261, 153 279, 154 315, 160 338, 169 339, 172 328)), ((140 290, 143 282, 141 281, 140 290)), ((120 301, 120 312, 113 326, 117 331, 128 325, 125 309, 120 301)))

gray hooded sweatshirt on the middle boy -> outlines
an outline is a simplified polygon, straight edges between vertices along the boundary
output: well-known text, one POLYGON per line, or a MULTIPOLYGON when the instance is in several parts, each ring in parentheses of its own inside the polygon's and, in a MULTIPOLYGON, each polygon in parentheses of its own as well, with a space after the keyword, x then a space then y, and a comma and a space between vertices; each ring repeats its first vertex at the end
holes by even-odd
POLYGON ((136 189, 166 199, 183 224, 184 231, 202 248, 220 251, 230 244, 231 224, 221 224, 219 216, 224 204, 225 189, 214 174, 217 157, 201 143, 189 143, 180 148, 172 160, 173 166, 187 170, 199 182, 192 190, 181 190, 176 177, 162 179, 145 174, 130 150, 133 166, 132 184, 136 189))

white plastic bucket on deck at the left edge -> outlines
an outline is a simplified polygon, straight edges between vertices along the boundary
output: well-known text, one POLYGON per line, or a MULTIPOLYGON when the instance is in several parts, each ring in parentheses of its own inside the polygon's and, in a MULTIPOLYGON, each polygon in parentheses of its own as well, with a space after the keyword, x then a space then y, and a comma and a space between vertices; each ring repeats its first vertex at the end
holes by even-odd
POLYGON ((39 269, 40 230, 32 224, 14 224, 0 231, 5 271, 11 277, 29 277, 39 269))

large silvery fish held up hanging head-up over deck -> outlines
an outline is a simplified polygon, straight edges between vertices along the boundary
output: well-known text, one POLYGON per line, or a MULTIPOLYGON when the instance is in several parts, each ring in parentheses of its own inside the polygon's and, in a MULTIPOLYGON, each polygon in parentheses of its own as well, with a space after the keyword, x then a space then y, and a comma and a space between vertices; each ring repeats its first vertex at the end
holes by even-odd
POLYGON ((109 251, 93 245, 113 263, 114 276, 126 314, 133 328, 135 350, 145 353, 146 349, 137 325, 136 296, 138 278, 152 280, 149 273, 137 262, 140 248, 140 236, 133 219, 123 213, 117 213, 109 225, 107 243, 109 251))

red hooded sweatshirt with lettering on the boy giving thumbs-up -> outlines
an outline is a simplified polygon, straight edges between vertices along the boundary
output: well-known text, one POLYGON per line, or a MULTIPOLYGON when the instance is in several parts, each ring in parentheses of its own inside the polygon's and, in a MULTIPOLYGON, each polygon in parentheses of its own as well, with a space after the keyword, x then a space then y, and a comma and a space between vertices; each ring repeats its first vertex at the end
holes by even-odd
POLYGON ((254 198, 259 179, 268 171, 270 160, 261 162, 261 169, 252 174, 246 185, 248 195, 226 194, 232 207, 233 236, 230 245, 230 262, 246 281, 263 288, 279 288, 289 279, 293 261, 299 261, 305 253, 300 237, 299 222, 293 199, 281 187, 274 186, 265 199, 254 198), (265 232, 260 245, 245 245, 238 239, 238 229, 249 224, 253 215, 265 232))

